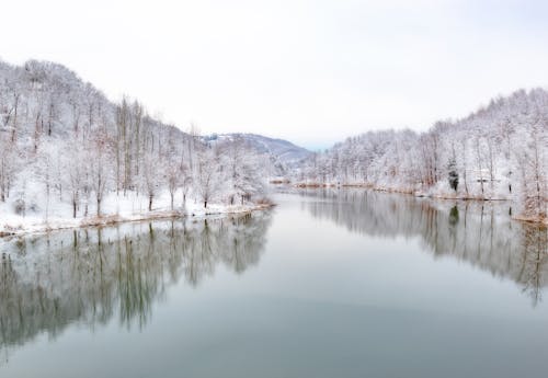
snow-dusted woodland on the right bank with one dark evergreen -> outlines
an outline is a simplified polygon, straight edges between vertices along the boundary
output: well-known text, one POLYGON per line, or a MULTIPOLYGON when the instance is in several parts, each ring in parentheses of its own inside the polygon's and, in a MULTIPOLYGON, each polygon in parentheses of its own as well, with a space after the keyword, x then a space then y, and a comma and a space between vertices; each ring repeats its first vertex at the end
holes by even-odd
POLYGON ((439 197, 512 199, 547 219, 548 92, 517 91, 429 131, 370 131, 307 160, 308 185, 363 185, 439 197))

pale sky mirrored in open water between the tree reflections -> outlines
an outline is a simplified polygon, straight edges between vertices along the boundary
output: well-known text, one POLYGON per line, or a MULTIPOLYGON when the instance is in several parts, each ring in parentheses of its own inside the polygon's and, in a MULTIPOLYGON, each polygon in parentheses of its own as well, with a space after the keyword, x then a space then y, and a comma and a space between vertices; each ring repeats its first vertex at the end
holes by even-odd
MULTIPOLYGON (((142 331, 69 329, 13 353, 71 377, 544 376, 548 307, 510 279, 434 259, 419 238, 369 237, 281 197, 261 262, 180 280, 142 331), (100 360, 101 364, 96 364, 100 360)), ((32 363, 28 363, 32 362, 32 363)), ((26 364, 26 367, 25 367, 26 364)), ((0 373, 1 371, 0 367, 0 373)), ((30 376, 33 376, 32 374, 30 376)))

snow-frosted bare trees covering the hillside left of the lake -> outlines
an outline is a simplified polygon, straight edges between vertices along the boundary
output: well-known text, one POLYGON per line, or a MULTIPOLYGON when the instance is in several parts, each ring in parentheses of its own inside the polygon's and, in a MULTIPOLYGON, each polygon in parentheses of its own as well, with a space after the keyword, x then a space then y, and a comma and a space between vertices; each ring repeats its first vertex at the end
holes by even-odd
POLYGON ((204 206, 243 203, 262 195, 265 163, 238 138, 208 145, 137 101, 112 103, 60 65, 0 62, 0 205, 19 214, 47 217, 55 198, 73 217, 101 215, 106 195, 128 192, 147 196, 149 210, 162 191, 172 208, 189 194, 204 206))

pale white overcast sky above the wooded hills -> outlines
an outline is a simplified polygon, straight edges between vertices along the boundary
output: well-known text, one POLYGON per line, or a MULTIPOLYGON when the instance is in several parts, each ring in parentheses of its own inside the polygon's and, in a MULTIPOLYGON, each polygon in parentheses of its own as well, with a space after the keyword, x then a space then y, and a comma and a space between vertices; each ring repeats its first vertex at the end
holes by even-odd
POLYGON ((0 58, 68 66, 202 133, 327 147, 548 85, 547 1, 16 0, 0 58))

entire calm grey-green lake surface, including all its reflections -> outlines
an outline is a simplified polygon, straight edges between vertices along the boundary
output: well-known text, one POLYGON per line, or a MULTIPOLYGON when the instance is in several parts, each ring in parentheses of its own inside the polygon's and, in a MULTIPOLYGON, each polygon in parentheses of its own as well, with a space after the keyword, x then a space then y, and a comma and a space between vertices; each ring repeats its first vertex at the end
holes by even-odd
POLYGON ((2 240, 0 377, 547 377, 546 228, 363 191, 2 240))

